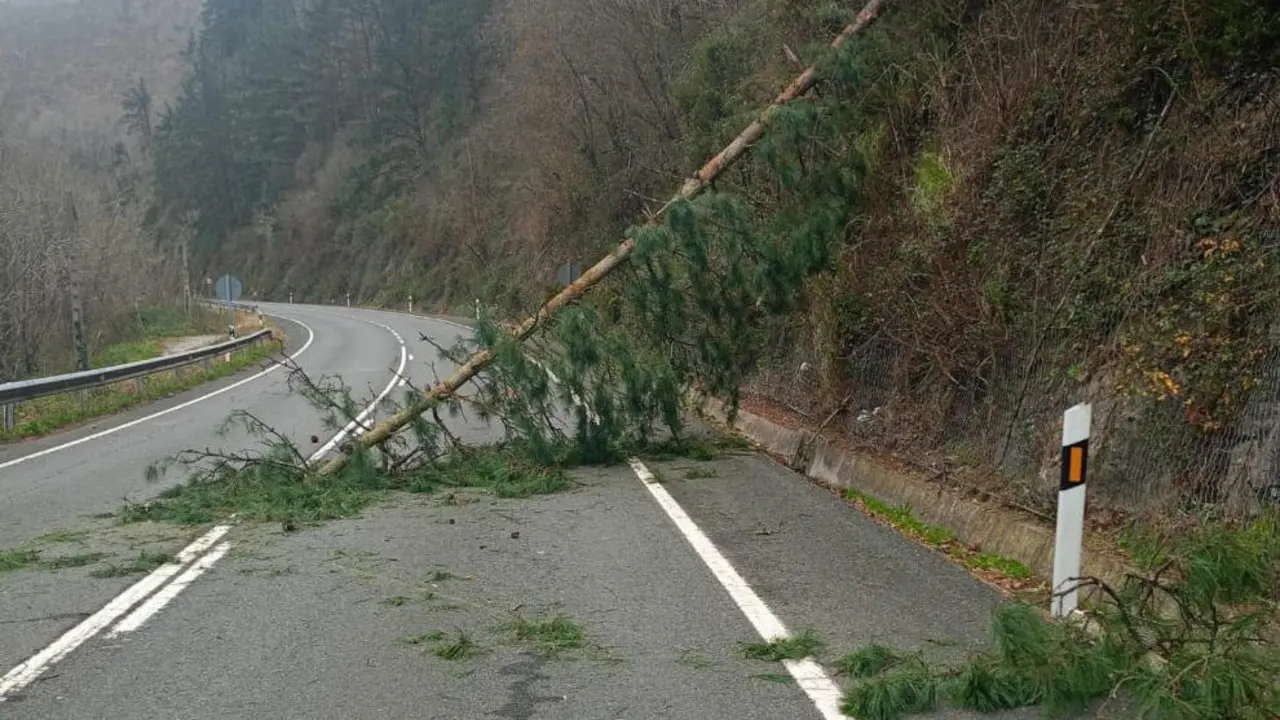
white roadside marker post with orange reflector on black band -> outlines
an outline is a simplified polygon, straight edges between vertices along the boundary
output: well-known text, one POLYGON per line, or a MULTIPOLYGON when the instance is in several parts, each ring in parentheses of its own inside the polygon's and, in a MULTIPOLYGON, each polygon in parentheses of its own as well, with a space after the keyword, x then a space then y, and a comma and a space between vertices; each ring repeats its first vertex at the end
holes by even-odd
POLYGON ((1057 533, 1053 538, 1055 618, 1079 605, 1080 553, 1084 550, 1084 479, 1089 468, 1093 406, 1076 405, 1062 414, 1062 474, 1057 488, 1057 533))

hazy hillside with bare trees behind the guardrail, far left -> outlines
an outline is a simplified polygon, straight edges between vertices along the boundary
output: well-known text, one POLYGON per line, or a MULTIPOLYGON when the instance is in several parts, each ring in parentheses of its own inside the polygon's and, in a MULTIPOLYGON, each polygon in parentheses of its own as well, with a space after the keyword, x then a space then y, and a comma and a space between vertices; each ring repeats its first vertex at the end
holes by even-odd
POLYGON ((0 382, 70 369, 73 279, 91 355, 179 297, 173 245, 146 222, 145 123, 178 90, 197 10, 0 1, 0 382))

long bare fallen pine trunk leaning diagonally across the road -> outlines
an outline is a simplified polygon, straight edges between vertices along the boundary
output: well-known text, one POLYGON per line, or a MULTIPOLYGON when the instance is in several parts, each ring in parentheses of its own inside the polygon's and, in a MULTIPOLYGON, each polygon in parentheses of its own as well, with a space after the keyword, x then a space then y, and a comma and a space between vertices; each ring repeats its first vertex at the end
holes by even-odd
MULTIPOLYGON (((876 22, 876 18, 879 15, 887 1, 888 0, 869 0, 854 18, 854 22, 845 26, 840 35, 832 40, 831 51, 838 51, 845 42, 849 41, 849 38, 876 22)), ((810 65, 803 73, 796 76, 796 78, 791 81, 791 85, 778 94, 778 96, 774 97, 773 101, 759 113, 759 115, 756 115, 751 124, 746 126, 746 128, 739 133, 737 137, 724 146, 718 155, 703 165, 698 173, 686 179, 684 186, 680 188, 680 192, 672 196, 671 200, 659 208, 657 213, 649 217, 648 224, 655 224, 673 205, 686 200, 692 200, 707 190, 712 181, 714 181, 722 172, 741 158, 748 149, 750 149, 751 145, 764 135, 764 129, 768 127, 769 122, 785 105, 809 92, 817 82, 817 65, 810 65)), ((580 278, 570 283, 558 295, 543 304, 536 313, 520 323, 520 325, 512 331, 512 336, 515 336, 517 341, 522 342, 532 334, 534 328, 550 319, 557 310, 566 305, 577 302, 586 293, 586 291, 599 284, 600 281, 613 273, 613 270, 623 265, 631 256, 632 250, 635 250, 634 240, 626 238, 620 242, 618 247, 613 252, 602 258, 599 263, 582 273, 580 278)), ((443 382, 435 384, 420 397, 415 397, 401 411, 376 424, 371 430, 365 433, 358 441, 360 445, 364 447, 374 447, 387 442, 404 425, 410 424, 413 418, 426 413, 434 407, 436 402, 457 392, 460 387, 475 377, 485 365, 493 363, 493 350, 485 348, 476 352, 443 382)), ((349 457, 349 454, 346 452, 338 455, 321 468, 321 474, 328 475, 337 473, 347 465, 349 457)))

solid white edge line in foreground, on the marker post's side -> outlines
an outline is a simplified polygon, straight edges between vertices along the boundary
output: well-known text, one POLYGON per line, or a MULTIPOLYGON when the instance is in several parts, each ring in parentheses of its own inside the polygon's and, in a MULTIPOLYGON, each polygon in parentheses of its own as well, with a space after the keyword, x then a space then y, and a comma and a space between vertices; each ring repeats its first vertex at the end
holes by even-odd
MULTIPOLYGON (((667 511, 667 516, 676 524, 680 533, 685 536, 685 539, 694 547, 698 556, 703 559, 703 562, 707 564, 707 568, 716 575, 721 585, 728 591, 730 597, 733 598, 739 610, 746 615, 755 632, 765 641, 788 637, 791 633, 782 624, 782 620, 769 610, 769 606, 760 600, 760 596, 755 594, 751 585, 742 579, 742 575, 739 575, 733 565, 730 564, 719 548, 712 543, 710 538, 685 512, 685 509, 676 502, 676 498, 671 497, 667 488, 658 483, 653 473, 649 471, 649 468, 635 457, 630 460, 630 464, 635 474, 644 482, 644 487, 649 491, 649 495, 667 511)), ((820 665, 808 657, 804 660, 785 660, 782 665, 786 666, 791 676, 795 678, 796 684, 800 685, 800 689, 818 707, 818 712, 822 714, 824 720, 847 720, 840 712, 840 688, 836 687, 836 683, 831 680, 820 665)))

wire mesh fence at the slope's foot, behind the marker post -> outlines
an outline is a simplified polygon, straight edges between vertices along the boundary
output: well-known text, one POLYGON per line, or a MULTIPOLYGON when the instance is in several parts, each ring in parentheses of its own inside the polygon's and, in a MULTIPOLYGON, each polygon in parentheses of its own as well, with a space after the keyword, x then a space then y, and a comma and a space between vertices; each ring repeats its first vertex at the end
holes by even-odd
POLYGON ((1066 341, 1011 342, 980 374, 938 380, 918 373, 918 354, 888 334, 838 357, 814 336, 803 319, 773 329, 748 396, 937 482, 1051 515, 1062 413, 1089 402, 1094 521, 1193 510, 1242 516, 1280 503, 1280 333, 1252 365, 1253 386, 1229 420, 1210 428, 1176 392, 1126 392, 1120 363, 1091 374, 1064 363, 1083 355, 1066 341))

